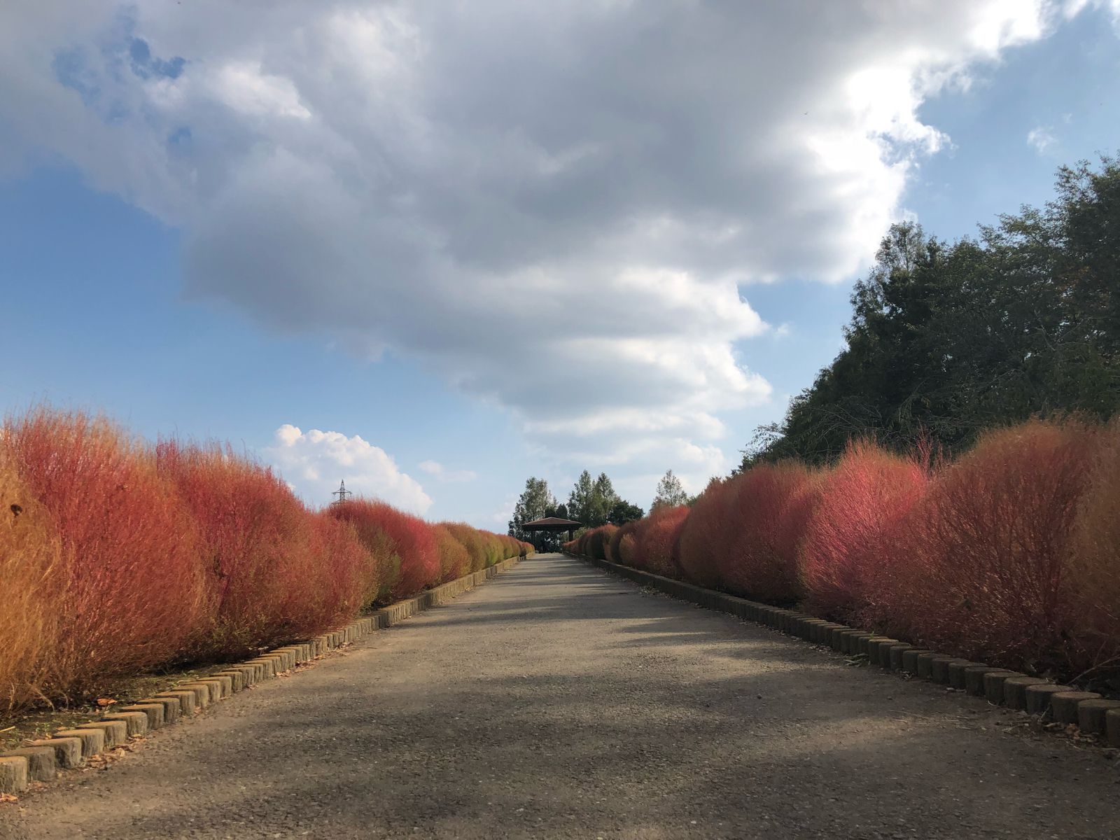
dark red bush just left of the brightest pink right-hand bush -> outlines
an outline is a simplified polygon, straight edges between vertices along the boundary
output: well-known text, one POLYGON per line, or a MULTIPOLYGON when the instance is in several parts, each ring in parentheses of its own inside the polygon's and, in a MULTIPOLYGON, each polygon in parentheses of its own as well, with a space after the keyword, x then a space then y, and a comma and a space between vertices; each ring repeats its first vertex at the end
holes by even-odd
POLYGON ((727 484, 730 498, 720 535, 725 548, 715 552, 717 576, 738 595, 799 600, 797 550, 816 501, 813 474, 793 461, 762 464, 727 484))

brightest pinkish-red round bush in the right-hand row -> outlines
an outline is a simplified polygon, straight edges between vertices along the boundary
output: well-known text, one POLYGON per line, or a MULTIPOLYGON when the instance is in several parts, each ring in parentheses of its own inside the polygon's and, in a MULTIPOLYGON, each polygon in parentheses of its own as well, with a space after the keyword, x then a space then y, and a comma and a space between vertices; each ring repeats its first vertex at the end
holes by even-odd
POLYGON ((899 520, 922 497, 928 470, 915 458, 870 442, 852 444, 821 477, 820 497, 801 544, 801 579, 811 610, 852 618, 871 587, 894 577, 899 520))

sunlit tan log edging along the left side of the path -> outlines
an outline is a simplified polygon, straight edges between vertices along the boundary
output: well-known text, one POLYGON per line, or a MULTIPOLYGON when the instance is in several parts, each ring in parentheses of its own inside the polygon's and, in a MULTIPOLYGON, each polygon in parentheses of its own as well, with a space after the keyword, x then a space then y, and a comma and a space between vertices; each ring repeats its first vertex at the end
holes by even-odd
POLYGON ((0 753, 0 793, 21 793, 30 782, 49 782, 62 768, 81 767, 87 758, 108 753, 127 744, 130 737, 197 715, 207 706, 232 697, 258 682, 290 671, 342 645, 356 642, 374 631, 400 624, 405 618, 463 595, 521 562, 512 557, 480 571, 428 589, 414 598, 396 601, 345 627, 324 633, 307 642, 277 647, 248 662, 231 664, 223 671, 193 682, 180 683, 169 691, 118 708, 101 720, 59 729, 49 738, 28 746, 0 753))

